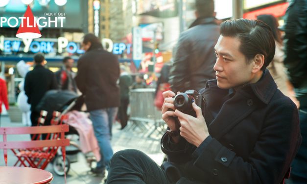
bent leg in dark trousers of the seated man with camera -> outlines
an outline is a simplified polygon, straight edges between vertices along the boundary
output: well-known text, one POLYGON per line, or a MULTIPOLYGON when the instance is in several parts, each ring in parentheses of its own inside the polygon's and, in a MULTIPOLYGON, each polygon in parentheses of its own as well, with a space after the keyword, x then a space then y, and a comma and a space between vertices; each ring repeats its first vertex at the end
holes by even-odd
POLYGON ((110 161, 107 184, 170 184, 165 171, 139 150, 122 150, 110 161))

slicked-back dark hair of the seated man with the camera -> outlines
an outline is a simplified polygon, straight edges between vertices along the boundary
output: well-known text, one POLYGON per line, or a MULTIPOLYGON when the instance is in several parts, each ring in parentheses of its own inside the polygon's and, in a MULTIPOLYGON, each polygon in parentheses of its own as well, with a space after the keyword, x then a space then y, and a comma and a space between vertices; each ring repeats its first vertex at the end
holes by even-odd
POLYGON ((247 61, 254 59, 257 54, 264 56, 262 71, 270 64, 275 55, 275 41, 271 28, 261 21, 237 19, 221 23, 220 34, 226 37, 236 37, 239 47, 247 61))

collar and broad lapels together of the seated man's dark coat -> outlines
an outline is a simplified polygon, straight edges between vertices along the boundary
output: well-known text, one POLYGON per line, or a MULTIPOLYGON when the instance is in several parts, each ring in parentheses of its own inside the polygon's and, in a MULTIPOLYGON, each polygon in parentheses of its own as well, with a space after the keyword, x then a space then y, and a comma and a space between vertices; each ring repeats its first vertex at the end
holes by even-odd
POLYGON ((204 115, 209 133, 216 139, 222 138, 250 115, 259 107, 259 103, 268 104, 277 90, 268 70, 265 70, 257 83, 245 85, 232 97, 227 98, 230 91, 219 89, 216 80, 208 81, 206 88, 209 89, 203 93, 207 99, 204 115), (217 112, 215 117, 212 111, 217 112))

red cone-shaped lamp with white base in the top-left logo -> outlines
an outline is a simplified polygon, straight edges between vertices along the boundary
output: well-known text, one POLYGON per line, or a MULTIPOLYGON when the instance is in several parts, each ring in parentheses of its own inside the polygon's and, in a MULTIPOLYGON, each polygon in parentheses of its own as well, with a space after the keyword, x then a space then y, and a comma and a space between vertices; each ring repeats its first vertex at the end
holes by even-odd
POLYGON ((35 22, 30 6, 26 8, 24 17, 17 31, 16 37, 22 39, 35 39, 42 36, 37 23, 35 22))

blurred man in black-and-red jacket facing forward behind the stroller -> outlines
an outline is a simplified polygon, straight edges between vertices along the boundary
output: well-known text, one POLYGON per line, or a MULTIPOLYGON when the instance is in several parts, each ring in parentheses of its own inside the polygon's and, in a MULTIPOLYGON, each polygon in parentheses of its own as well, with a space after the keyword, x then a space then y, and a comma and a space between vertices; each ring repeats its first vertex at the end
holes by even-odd
POLYGON ((73 59, 69 56, 63 58, 63 67, 55 72, 58 88, 60 90, 69 90, 77 92, 77 86, 74 81, 75 73, 71 70, 73 59))

